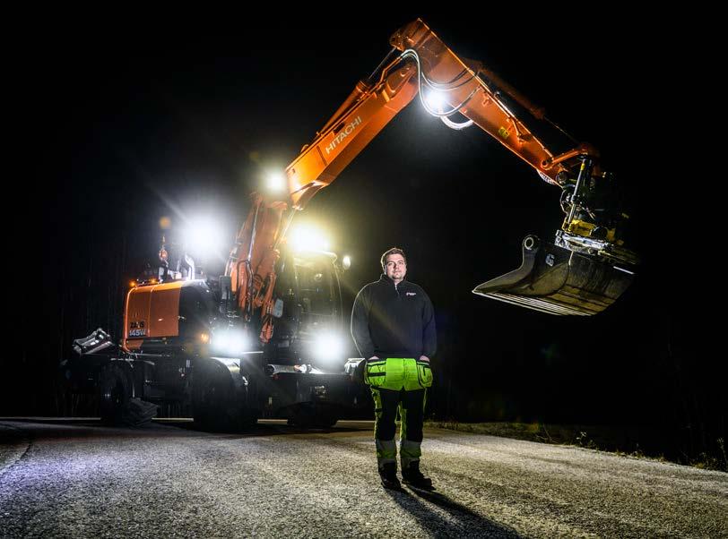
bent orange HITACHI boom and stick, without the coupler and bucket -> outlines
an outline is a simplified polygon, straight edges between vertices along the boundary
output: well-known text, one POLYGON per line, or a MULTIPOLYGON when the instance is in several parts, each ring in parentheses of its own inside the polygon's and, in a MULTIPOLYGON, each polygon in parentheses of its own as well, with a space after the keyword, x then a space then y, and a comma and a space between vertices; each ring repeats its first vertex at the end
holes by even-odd
POLYGON ((390 42, 393 53, 398 54, 390 53, 367 81, 357 84, 316 133, 316 139, 286 169, 295 209, 302 210, 319 189, 331 184, 418 93, 430 114, 455 129, 478 125, 551 184, 559 184, 563 177, 559 173, 577 166, 583 158, 598 158, 598 152, 585 143, 554 155, 499 95, 507 92, 538 119, 545 117, 543 109, 481 63, 466 63, 456 56, 423 21, 418 19, 398 30, 390 42), (439 104, 433 96, 439 98, 439 104), (455 113, 470 121, 455 124, 448 119, 455 113))

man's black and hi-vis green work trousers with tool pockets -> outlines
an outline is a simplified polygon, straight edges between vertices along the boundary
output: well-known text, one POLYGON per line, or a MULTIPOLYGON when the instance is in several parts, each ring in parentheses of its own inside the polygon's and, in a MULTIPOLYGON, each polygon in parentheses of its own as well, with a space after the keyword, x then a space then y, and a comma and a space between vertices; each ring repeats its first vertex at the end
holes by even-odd
POLYGON ((387 357, 367 363, 364 374, 374 398, 374 439, 377 444, 377 465, 396 463, 397 446, 394 424, 397 410, 402 419, 400 428, 400 460, 402 469, 420 460, 422 422, 427 388, 432 385, 429 363, 412 357, 387 357))

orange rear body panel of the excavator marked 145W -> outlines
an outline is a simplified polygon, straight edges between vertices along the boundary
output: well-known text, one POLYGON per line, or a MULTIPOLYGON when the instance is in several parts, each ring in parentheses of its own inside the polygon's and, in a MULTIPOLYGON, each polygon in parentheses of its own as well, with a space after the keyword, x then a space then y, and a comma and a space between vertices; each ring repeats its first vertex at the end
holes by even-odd
POLYGON ((138 349, 144 338, 179 335, 179 294, 186 281, 134 287, 126 295, 124 344, 138 349))

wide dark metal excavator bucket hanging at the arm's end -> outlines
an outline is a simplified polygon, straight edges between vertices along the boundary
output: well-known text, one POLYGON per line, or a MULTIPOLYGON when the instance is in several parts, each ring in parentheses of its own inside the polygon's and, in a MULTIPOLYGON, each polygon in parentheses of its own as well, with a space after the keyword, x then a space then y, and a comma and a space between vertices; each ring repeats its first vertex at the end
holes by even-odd
POLYGON ((613 304, 634 278, 596 257, 542 244, 535 235, 524 238, 523 256, 520 268, 472 293, 549 314, 589 316, 613 304))

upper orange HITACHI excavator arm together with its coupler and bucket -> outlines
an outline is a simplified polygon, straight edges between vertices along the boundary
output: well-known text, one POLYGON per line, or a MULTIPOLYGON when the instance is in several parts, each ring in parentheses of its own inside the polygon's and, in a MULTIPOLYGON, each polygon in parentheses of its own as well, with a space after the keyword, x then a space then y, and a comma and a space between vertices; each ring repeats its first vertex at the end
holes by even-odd
MULTIPOLYGON (((637 256, 623 246, 620 235, 628 216, 616 207, 615 180, 602 171, 599 152, 568 137, 542 108, 480 62, 455 55, 423 21, 397 30, 390 43, 392 51, 377 70, 356 85, 286 168, 291 207, 303 210, 419 96, 429 114, 453 129, 477 125, 533 167, 542 180, 562 189, 566 217, 554 244, 527 236, 522 266, 473 292, 551 314, 588 315, 612 304, 631 282, 637 256), (461 121, 454 119, 458 115, 461 121), (537 136, 529 127, 534 122, 550 124, 552 131, 561 133, 568 139, 566 149, 555 150, 537 136)), ((284 233, 285 229, 276 231, 278 241, 284 233)), ((261 245, 273 250, 276 246, 261 245)), ((265 267, 263 273, 272 270, 265 267)))

